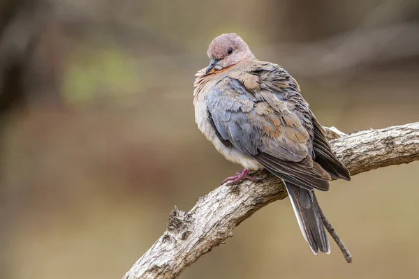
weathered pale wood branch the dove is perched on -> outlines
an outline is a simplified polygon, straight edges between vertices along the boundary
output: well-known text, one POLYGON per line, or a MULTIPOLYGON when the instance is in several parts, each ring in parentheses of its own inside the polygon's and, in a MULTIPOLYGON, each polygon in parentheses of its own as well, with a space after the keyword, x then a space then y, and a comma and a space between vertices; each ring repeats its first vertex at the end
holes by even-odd
MULTIPOLYGON (((339 130, 328 129, 339 137, 339 130)), ((419 160, 419 122, 344 135, 330 142, 352 175, 419 160)), ((188 213, 170 213, 166 232, 126 273, 124 279, 177 278, 187 266, 219 246, 233 229, 263 206, 287 196, 284 185, 266 172, 260 182, 220 186, 200 197, 188 213)))

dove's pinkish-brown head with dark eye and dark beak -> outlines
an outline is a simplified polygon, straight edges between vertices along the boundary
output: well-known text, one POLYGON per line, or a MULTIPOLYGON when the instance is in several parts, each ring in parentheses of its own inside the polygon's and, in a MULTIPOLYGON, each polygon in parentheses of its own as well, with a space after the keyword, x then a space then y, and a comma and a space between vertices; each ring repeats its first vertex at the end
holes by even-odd
POLYGON ((221 70, 254 57, 244 40, 235 33, 222 34, 214 38, 207 54, 211 62, 206 74, 213 68, 221 70))

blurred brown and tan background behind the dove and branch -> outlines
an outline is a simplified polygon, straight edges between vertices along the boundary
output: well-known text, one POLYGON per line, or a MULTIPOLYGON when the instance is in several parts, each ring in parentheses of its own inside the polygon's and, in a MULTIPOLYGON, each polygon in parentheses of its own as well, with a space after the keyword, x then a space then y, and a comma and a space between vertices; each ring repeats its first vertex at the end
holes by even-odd
MULTIPOLYGON (((284 66, 324 126, 419 121, 417 0, 1 0, 1 278, 122 278, 175 205, 241 169, 192 105, 207 46, 229 32, 284 66)), ((318 194, 353 264, 335 243, 314 257, 286 199, 180 278, 414 277, 418 167, 318 194)))

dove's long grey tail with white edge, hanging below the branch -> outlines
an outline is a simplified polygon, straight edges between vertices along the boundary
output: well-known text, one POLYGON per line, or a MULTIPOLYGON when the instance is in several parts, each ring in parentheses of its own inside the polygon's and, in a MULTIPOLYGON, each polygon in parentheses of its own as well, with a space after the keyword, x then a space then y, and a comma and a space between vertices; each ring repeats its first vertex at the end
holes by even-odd
POLYGON ((314 255, 318 250, 330 253, 328 236, 326 236, 320 213, 314 202, 314 191, 307 190, 284 181, 286 190, 293 204, 295 216, 304 239, 309 243, 314 255))

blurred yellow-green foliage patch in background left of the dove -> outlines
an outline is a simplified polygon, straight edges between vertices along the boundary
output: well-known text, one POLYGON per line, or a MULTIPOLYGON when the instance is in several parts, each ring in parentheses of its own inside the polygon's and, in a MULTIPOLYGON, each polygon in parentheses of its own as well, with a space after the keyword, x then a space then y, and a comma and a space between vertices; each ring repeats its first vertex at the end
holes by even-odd
POLYGON ((91 53, 80 47, 68 57, 62 94, 69 103, 91 103, 101 98, 118 102, 141 90, 141 78, 132 56, 122 50, 91 53))

